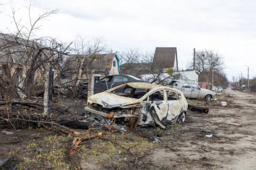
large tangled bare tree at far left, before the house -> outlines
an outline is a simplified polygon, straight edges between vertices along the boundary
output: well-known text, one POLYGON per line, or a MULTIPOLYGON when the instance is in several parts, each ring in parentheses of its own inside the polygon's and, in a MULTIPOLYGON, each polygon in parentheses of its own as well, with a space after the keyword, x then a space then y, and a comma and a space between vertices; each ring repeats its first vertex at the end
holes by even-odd
POLYGON ((29 24, 23 22, 12 10, 13 24, 16 31, 12 34, 0 36, 0 60, 3 74, 1 85, 7 97, 33 97, 44 91, 44 73, 49 65, 57 66, 67 53, 67 48, 53 38, 35 38, 36 30, 40 28, 40 21, 55 14, 49 11, 32 19, 31 5, 28 7, 29 24))

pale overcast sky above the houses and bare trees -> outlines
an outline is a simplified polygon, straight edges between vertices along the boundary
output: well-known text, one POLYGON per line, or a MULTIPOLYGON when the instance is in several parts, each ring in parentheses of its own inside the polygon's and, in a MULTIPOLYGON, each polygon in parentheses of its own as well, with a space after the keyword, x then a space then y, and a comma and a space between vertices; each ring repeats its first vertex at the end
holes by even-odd
MULTIPOLYGON (((28 17, 30 1, 0 0, 0 31, 12 32, 11 6, 28 17), (10 4, 11 2, 11 4, 10 4)), ((179 67, 187 69, 196 50, 222 55, 228 79, 256 77, 256 1, 254 0, 32 0, 32 15, 58 9, 41 22, 39 36, 72 42, 78 34, 102 38, 114 51, 154 52, 177 47, 179 67), (246 66, 247 65, 247 66, 246 66)))

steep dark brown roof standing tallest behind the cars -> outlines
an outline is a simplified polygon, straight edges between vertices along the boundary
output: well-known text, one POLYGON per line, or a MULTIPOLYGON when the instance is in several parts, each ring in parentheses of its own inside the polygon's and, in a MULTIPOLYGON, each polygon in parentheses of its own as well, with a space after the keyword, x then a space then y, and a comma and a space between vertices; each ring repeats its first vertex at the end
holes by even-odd
POLYGON ((176 47, 156 47, 153 64, 156 69, 173 68, 176 58, 176 47))

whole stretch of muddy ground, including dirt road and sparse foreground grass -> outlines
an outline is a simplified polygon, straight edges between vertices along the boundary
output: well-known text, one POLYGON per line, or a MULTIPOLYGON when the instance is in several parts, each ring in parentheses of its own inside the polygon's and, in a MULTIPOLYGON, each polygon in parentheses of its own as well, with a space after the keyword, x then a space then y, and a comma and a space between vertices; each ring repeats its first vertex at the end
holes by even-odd
MULTIPOLYGON (((77 148, 77 160, 82 169, 255 169, 256 95, 230 89, 227 94, 232 97, 218 97, 218 101, 228 102, 227 107, 189 100, 210 112, 189 112, 184 124, 167 130, 77 130, 82 135, 102 134, 77 148), (211 130, 213 136, 205 136, 203 130, 211 130)), ((82 114, 85 103, 57 102, 73 105, 72 114, 82 114)), ((74 169, 68 157, 72 134, 34 127, 0 130, 13 132, 0 133, 0 165, 9 159, 0 169, 74 169)))

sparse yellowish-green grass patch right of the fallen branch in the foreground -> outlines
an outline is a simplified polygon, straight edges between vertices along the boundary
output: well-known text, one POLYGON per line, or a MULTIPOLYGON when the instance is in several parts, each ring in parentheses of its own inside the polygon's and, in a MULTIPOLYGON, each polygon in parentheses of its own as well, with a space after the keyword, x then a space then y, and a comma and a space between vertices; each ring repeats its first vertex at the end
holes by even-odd
POLYGON ((149 142, 148 139, 136 136, 129 132, 125 134, 109 134, 108 136, 104 136, 104 138, 108 138, 112 142, 108 140, 91 140, 90 147, 82 146, 79 148, 79 154, 84 159, 104 163, 109 161, 114 155, 129 152, 139 154, 152 149, 155 145, 154 143, 149 142))

